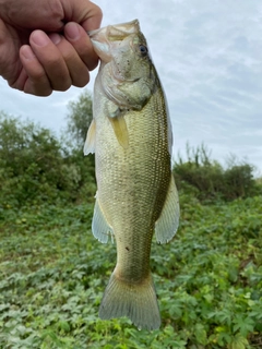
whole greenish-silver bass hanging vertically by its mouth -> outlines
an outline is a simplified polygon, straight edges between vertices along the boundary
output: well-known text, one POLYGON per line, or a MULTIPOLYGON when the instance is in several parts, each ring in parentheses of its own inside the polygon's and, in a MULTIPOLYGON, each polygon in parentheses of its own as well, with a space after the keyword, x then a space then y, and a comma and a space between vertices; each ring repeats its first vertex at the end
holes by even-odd
POLYGON ((160 327, 150 269, 152 238, 169 242, 179 224, 171 172, 168 106, 138 20, 88 33, 100 59, 84 154, 95 153, 92 230, 117 246, 99 317, 127 316, 139 329, 160 327))

